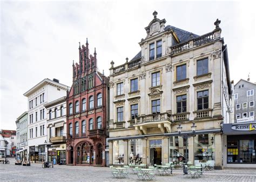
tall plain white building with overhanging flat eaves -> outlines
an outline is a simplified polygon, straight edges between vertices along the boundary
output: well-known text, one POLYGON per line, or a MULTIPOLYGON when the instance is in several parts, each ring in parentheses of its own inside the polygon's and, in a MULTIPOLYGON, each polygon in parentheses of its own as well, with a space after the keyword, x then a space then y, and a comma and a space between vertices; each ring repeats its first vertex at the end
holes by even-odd
POLYGON ((64 97, 68 86, 59 80, 43 79, 24 93, 28 97, 28 160, 36 163, 45 161, 47 139, 46 109, 44 104, 64 97))

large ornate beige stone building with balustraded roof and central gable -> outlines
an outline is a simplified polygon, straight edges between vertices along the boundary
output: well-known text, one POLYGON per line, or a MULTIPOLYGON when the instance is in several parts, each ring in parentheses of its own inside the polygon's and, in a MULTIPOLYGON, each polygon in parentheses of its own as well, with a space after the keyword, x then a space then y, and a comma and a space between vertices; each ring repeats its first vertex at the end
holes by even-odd
MULTIPOLYGON (((154 18, 141 50, 110 68, 110 165, 129 164, 139 154, 148 166, 210 161, 223 167, 221 126, 230 120, 231 82, 220 21, 198 36, 154 18), (195 123, 195 136, 191 132, 195 123)), ((134 162, 134 160, 133 160, 134 162)))

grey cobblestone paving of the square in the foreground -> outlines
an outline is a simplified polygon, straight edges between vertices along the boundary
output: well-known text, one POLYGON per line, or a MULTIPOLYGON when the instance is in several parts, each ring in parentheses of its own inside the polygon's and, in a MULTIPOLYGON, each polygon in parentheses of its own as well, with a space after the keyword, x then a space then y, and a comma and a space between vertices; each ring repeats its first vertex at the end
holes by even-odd
MULTIPOLYGON (((205 177, 190 179, 181 170, 173 170, 172 176, 156 176, 156 181, 253 181, 256 182, 255 168, 226 168, 225 170, 205 171, 205 177)), ((138 181, 136 174, 129 178, 114 179, 109 167, 65 166, 42 168, 42 164, 21 166, 0 164, 0 181, 138 181)))

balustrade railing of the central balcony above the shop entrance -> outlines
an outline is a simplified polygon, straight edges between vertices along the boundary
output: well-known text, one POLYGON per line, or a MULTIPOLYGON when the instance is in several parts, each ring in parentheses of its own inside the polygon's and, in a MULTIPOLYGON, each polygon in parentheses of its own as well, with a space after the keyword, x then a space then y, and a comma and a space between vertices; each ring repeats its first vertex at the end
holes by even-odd
POLYGON ((171 122, 171 114, 164 112, 159 114, 149 114, 136 118, 136 124, 149 123, 149 122, 163 122, 168 120, 171 122))

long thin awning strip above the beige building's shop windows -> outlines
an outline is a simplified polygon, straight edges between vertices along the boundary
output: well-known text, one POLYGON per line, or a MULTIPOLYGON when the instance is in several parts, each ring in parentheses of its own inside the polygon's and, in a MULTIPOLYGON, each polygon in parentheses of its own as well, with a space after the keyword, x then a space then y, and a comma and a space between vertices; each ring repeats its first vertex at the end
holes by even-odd
MULTIPOLYGON (((195 133, 192 133, 192 131, 184 131, 184 132, 181 132, 181 135, 184 135, 184 134, 207 134, 207 133, 219 133, 219 132, 220 132, 220 129, 199 130, 199 131, 196 131, 195 133)), ((127 137, 115 137, 115 138, 108 138, 107 141, 137 139, 137 138, 155 137, 155 136, 179 136, 179 133, 174 132, 174 133, 145 134, 145 135, 127 136, 127 137)))

